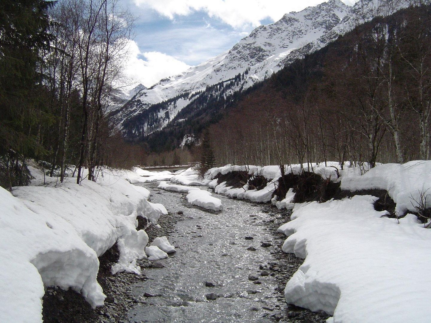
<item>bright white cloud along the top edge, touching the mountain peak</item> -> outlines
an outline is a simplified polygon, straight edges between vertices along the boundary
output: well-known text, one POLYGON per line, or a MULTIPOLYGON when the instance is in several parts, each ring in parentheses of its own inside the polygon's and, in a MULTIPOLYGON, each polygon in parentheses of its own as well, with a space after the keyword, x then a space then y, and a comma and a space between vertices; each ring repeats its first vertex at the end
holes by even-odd
MULTIPOLYGON (((344 0, 351 4, 357 0, 344 0)), ((277 21, 291 11, 300 11, 307 6, 315 6, 323 0, 134 0, 156 10, 161 15, 174 19, 175 15, 187 16, 192 11, 206 12, 233 28, 241 29, 261 25, 263 19, 277 21)))

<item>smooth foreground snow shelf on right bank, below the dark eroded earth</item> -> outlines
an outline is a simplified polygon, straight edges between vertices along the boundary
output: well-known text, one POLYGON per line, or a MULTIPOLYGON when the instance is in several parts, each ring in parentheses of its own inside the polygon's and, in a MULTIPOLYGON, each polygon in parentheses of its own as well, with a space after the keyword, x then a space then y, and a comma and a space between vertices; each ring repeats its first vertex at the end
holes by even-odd
POLYGON ((283 251, 305 258, 286 285, 288 303, 323 310, 328 322, 427 322, 431 232, 408 214, 381 217, 375 197, 297 205, 279 228, 283 251))

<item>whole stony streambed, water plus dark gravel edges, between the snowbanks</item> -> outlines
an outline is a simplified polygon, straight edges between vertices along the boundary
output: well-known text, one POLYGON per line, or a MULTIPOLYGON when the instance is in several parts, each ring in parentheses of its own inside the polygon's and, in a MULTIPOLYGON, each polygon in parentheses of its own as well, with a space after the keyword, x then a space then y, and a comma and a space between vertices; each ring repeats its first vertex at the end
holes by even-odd
POLYGON ((191 206, 183 194, 162 191, 155 184, 146 186, 152 201, 169 211, 159 219, 159 226, 147 227, 150 242, 168 236, 177 254, 160 261, 138 261, 142 275, 112 276, 109 268, 118 257, 114 246, 100 258, 98 280, 107 295, 105 306, 92 310, 76 292, 49 288, 44 296, 45 322, 225 322, 227 315, 231 322, 324 322, 328 318, 284 301, 284 286, 303 262, 281 251, 285 236, 276 230, 290 221, 289 212, 223 198, 225 211, 247 213, 236 224, 223 226, 226 220, 221 213, 191 206), (256 235, 253 228, 260 233, 256 235), (220 238, 223 231, 225 239, 220 238))

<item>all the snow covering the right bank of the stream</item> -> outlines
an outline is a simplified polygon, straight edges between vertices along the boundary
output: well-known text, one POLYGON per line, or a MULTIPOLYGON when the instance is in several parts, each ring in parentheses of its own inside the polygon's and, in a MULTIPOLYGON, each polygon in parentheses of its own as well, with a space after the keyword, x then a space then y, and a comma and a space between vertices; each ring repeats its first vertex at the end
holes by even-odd
MULTIPOLYGON (((340 182, 343 190, 387 190, 401 218, 375 211, 377 198, 370 195, 293 204, 295 193, 290 189, 282 201, 273 199, 278 208, 294 208, 292 221, 279 228, 288 236, 283 251, 305 258, 287 283, 286 301, 326 311, 333 315, 328 322, 429 321, 431 231, 409 212, 418 212, 421 205, 431 208, 431 161, 378 164, 371 170, 348 163, 341 170, 332 162, 289 165, 284 171, 298 174, 301 168, 340 182)), ((258 202, 268 201, 281 176, 278 166, 227 165, 211 169, 206 179, 231 171, 260 175, 269 183, 261 190, 248 190, 248 185, 232 189, 215 181, 209 186, 230 197, 258 202)))

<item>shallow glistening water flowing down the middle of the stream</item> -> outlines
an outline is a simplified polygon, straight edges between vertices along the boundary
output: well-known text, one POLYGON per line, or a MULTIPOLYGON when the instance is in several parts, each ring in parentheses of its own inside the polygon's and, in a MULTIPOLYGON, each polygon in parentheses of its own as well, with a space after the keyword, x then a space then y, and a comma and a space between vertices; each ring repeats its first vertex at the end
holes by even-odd
POLYGON ((129 311, 129 321, 274 322, 269 315, 281 304, 276 298, 277 283, 272 276, 260 276, 259 270, 260 264, 276 261, 270 248, 261 246, 273 239, 262 224, 270 215, 259 205, 216 194, 223 211, 210 213, 187 205, 184 194, 154 186, 150 190, 151 202, 184 214, 178 215, 181 219, 168 236, 177 252, 157 261, 164 268, 145 269, 150 279, 134 286, 134 295, 142 302, 129 311), (247 250, 250 246, 256 251, 247 250), (260 284, 249 280, 250 274, 259 275, 260 284), (216 286, 206 287, 206 280, 216 286), (209 293, 217 298, 207 300, 209 293))

